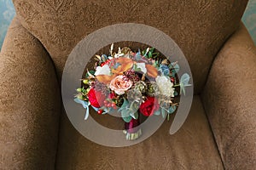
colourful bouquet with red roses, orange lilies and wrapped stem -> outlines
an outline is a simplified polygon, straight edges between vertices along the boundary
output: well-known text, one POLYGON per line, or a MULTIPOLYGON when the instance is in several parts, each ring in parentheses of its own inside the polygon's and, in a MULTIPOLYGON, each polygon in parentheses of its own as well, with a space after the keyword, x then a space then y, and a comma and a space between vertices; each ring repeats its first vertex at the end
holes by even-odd
POLYGON ((175 97, 185 94, 189 86, 187 73, 178 80, 177 62, 170 62, 160 57, 154 48, 133 52, 131 48, 119 48, 110 54, 96 55, 93 70, 87 70, 77 89, 75 102, 86 109, 86 120, 89 106, 99 115, 118 112, 125 122, 125 136, 128 140, 139 138, 142 134, 139 116, 167 116, 177 109, 175 97))

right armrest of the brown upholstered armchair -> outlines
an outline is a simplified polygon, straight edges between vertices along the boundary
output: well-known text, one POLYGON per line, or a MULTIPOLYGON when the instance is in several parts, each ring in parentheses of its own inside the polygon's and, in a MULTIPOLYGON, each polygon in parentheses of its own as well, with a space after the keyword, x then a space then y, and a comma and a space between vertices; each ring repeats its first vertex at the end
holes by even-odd
POLYGON ((202 95, 226 169, 256 167, 256 48, 241 25, 212 65, 202 95))

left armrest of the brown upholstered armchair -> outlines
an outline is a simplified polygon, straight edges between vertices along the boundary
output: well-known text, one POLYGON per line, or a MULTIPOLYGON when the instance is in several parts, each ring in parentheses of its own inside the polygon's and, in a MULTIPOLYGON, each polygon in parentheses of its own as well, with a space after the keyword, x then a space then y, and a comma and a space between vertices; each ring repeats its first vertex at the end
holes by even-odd
POLYGON ((0 169, 54 169, 58 89, 49 54, 15 19, 0 55, 0 169))

